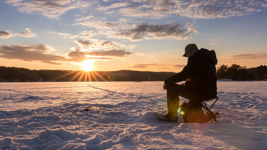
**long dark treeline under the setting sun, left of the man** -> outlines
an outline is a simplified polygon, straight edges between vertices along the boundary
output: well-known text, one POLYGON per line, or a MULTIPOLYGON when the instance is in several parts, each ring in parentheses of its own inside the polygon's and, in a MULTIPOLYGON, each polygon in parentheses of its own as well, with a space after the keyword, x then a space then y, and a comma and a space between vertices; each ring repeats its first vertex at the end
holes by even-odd
POLYGON ((30 70, 0 66, 0 82, 164 81, 174 72, 30 70))

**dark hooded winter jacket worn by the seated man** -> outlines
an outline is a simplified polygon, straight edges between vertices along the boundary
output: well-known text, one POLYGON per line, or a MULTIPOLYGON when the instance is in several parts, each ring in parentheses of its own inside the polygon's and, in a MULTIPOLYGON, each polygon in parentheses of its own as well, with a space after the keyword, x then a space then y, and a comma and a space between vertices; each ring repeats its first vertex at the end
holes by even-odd
POLYGON ((217 95, 216 67, 217 58, 214 50, 201 48, 188 58, 187 65, 181 72, 167 78, 164 83, 174 84, 187 79, 185 86, 191 88, 200 98, 217 95))

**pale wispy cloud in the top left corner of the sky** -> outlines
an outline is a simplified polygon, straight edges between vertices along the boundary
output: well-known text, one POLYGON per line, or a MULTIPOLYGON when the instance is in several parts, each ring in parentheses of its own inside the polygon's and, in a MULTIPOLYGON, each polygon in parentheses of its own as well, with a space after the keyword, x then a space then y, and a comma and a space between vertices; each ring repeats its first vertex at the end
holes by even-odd
POLYGON ((51 19, 58 18, 68 10, 89 6, 88 2, 79 0, 7 0, 6 3, 17 7, 20 12, 40 12, 51 19))

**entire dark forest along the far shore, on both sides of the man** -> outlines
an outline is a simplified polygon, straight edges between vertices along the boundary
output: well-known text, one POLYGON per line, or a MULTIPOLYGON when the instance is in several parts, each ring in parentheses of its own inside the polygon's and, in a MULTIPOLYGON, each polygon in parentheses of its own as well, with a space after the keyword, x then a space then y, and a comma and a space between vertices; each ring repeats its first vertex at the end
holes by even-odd
MULTIPOLYGON (((27 68, 0 66, 0 82, 84 82, 84 81, 164 81, 175 72, 152 71, 70 71, 30 70, 27 68)), ((267 66, 247 68, 232 64, 217 67, 217 79, 235 81, 266 80, 267 66)))

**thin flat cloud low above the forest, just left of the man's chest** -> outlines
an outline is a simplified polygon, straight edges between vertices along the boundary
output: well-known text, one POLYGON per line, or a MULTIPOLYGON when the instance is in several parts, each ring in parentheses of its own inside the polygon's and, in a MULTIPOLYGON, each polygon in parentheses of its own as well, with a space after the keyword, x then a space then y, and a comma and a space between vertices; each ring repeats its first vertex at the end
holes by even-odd
POLYGON ((160 69, 174 69, 174 68, 183 68, 186 65, 159 65, 157 63, 150 63, 150 64, 134 64, 133 66, 128 66, 128 68, 148 68, 150 66, 154 66, 154 68, 159 68, 157 66, 164 66, 160 67, 160 69))

